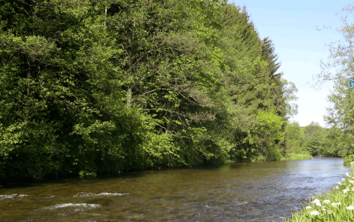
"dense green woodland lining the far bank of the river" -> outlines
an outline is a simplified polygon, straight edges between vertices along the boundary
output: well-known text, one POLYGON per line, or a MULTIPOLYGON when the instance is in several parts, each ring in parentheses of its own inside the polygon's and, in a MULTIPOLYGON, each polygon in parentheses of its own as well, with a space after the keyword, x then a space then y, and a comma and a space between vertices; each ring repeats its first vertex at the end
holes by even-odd
POLYGON ((226 1, 0 1, 0 179, 338 155, 274 50, 226 1))

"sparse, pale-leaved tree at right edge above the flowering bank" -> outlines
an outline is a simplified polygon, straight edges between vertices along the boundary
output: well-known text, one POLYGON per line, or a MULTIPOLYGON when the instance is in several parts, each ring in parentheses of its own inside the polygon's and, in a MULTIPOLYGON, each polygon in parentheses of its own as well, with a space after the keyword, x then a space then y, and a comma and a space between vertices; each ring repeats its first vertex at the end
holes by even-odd
MULTIPOLYGON (((354 71, 352 45, 354 27, 352 24, 348 24, 346 18, 354 11, 354 6, 349 3, 343 7, 342 11, 346 12, 346 16, 341 19, 344 24, 336 30, 342 34, 343 40, 327 44, 330 51, 329 62, 324 63, 321 60, 321 73, 314 77, 316 81, 314 85, 321 87, 321 84, 327 81, 335 83, 334 90, 328 97, 333 106, 327 108, 328 114, 325 116, 325 120, 332 128, 338 128, 344 135, 341 148, 347 150, 346 157, 348 157, 354 152, 352 145, 354 139, 354 91, 348 88, 348 79, 353 78, 354 71), (332 73, 331 68, 336 68, 336 72, 332 73)), ((345 159, 344 162, 349 162, 349 160, 345 159)))

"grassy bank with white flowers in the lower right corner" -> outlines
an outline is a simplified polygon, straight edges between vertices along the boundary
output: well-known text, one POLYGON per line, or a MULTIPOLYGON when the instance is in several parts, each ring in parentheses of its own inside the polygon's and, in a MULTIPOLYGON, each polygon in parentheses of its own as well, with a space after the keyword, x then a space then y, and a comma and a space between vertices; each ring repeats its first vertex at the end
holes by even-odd
POLYGON ((354 220, 354 174, 346 173, 337 182, 338 186, 329 192, 318 194, 309 199, 300 211, 292 213, 283 222, 298 221, 353 221, 354 220))

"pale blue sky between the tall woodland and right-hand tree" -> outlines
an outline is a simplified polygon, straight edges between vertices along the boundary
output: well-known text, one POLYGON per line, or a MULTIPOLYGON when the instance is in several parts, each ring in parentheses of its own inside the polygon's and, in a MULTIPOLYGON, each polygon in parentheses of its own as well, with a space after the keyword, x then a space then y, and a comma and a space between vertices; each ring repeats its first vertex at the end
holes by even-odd
MULTIPOLYGON (((327 95, 334 84, 324 83, 321 89, 314 89, 313 77, 321 72, 320 60, 329 61, 329 47, 325 44, 343 40, 335 27, 343 25, 341 16, 346 12, 342 12, 342 8, 349 1, 229 0, 229 3, 241 8, 246 6, 260 38, 269 36, 274 43, 278 62, 281 62, 278 72, 284 73, 283 79, 295 83, 298 114, 290 121, 297 121, 300 126, 314 121, 326 127, 323 116, 326 107, 331 105, 327 95), (332 29, 316 30, 322 26, 332 26, 332 29)), ((353 16, 354 13, 348 16, 350 23, 353 16)))

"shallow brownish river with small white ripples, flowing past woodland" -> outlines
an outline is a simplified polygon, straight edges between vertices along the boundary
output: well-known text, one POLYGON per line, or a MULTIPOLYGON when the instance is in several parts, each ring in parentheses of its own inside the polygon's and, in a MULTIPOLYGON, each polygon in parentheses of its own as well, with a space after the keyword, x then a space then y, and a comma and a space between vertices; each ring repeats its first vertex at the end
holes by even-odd
POLYGON ((4 186, 0 220, 282 221, 350 171, 342 158, 314 158, 4 186))

